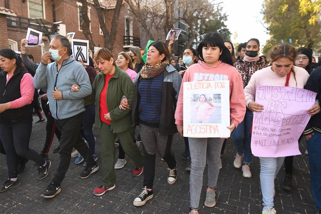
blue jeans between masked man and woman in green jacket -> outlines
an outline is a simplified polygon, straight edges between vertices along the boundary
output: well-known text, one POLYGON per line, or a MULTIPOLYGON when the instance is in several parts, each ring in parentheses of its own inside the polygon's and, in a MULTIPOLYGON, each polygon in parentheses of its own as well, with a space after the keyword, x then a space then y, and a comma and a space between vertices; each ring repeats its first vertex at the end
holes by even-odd
POLYGON ((82 118, 83 133, 87 138, 90 153, 93 155, 95 154, 95 137, 92 132, 92 125, 95 123, 95 104, 87 105, 85 109, 82 118))

